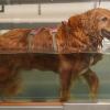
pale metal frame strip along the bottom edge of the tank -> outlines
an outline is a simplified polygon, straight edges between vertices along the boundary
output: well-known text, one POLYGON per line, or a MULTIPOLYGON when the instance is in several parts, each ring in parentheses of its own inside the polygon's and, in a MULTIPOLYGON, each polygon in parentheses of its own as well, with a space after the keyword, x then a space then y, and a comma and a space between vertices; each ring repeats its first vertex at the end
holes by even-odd
POLYGON ((63 106, 1 106, 0 110, 110 110, 110 103, 64 103, 63 106))

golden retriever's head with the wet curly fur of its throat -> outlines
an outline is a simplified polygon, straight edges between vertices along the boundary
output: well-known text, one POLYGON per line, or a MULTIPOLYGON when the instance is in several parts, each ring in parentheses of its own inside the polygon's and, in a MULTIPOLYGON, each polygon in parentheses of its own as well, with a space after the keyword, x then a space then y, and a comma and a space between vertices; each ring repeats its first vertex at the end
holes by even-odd
POLYGON ((77 36, 80 36, 82 42, 88 38, 87 50, 97 51, 98 47, 102 46, 103 37, 110 40, 110 10, 98 8, 70 16, 68 28, 73 32, 81 33, 77 36))

